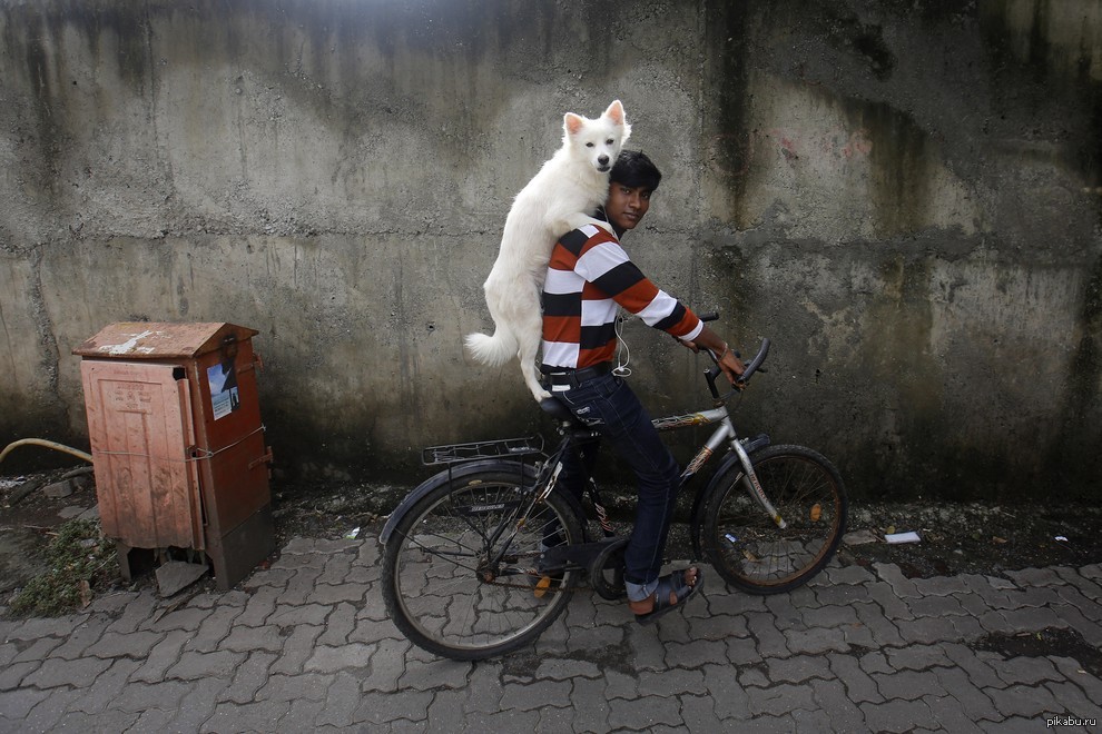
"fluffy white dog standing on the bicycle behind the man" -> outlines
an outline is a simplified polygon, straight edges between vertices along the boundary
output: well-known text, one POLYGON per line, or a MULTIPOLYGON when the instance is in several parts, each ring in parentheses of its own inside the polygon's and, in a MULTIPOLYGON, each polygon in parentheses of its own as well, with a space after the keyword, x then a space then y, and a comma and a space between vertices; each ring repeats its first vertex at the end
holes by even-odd
POLYGON ((620 100, 596 120, 567 112, 562 128, 562 147, 513 200, 498 260, 482 286, 493 336, 469 334, 465 339, 474 358, 485 365, 518 357, 524 384, 538 401, 551 397, 535 368, 543 334, 540 291, 551 250, 560 237, 583 225, 611 228, 589 212, 608 198, 609 171, 631 135, 620 100))

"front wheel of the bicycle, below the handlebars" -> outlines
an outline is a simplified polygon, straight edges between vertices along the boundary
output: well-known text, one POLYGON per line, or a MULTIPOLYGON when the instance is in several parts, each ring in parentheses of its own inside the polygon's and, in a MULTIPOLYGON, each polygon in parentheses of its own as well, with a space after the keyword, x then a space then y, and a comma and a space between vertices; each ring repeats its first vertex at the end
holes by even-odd
POLYGON ((769 446, 750 460, 787 527, 751 496, 742 465, 735 463, 705 500, 703 549, 731 586, 750 594, 788 592, 810 581, 837 550, 846 530, 846 489, 834 465, 804 446, 769 446))

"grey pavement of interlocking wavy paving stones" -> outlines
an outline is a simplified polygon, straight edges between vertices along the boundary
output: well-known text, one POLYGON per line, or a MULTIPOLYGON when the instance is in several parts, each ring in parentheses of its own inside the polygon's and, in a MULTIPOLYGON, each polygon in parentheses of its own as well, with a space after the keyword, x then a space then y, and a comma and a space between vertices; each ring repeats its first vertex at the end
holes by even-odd
POLYGON ((456 663, 386 618, 376 540, 296 538, 239 589, 0 622, 0 731, 1102 731, 1099 565, 835 562, 790 594, 699 597, 641 627, 580 593, 532 648, 456 663), (1052 629, 1091 659, 977 644, 1052 629))

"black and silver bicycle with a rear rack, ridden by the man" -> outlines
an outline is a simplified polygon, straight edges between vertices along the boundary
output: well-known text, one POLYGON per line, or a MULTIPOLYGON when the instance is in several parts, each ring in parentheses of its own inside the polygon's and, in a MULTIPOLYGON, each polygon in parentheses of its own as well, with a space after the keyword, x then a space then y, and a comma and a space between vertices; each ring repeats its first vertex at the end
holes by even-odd
MULTIPOLYGON (((719 367, 706 370, 712 408, 653 420, 661 432, 718 424, 681 473, 685 487, 727 446, 693 498, 692 552, 750 594, 787 592, 818 574, 838 547, 847 512, 842 477, 821 455, 771 446, 765 434, 736 434, 727 401, 768 351, 764 339, 740 385, 726 394, 716 386, 719 367)), ((539 436, 427 447, 422 460, 446 468, 410 493, 382 530, 387 612, 433 654, 475 661, 523 647, 586 582, 604 598, 624 596, 627 537, 614 534, 596 482, 590 477, 587 495, 599 539, 590 538, 581 503, 557 484, 563 452, 598 434, 554 398, 541 407, 558 421, 554 450, 544 454, 539 436)))

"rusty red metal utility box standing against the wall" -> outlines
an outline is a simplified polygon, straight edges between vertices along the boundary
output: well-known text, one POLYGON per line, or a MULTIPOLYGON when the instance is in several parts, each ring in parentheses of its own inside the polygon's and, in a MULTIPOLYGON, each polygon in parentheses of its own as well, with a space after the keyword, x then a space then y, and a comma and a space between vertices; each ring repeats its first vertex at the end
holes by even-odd
POLYGON ((72 350, 82 357, 100 520, 124 577, 131 549, 195 549, 225 591, 275 549, 256 334, 122 323, 72 350))

